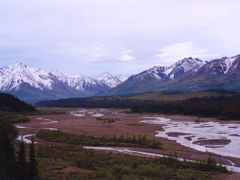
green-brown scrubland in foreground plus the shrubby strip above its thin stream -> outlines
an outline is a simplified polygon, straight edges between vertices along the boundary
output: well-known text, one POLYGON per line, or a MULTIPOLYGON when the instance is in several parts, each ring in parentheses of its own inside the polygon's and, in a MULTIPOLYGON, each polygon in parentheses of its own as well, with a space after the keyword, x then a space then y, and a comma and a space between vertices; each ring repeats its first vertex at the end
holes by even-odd
POLYGON ((38 137, 61 145, 38 145, 39 175, 43 179, 177 179, 205 180, 227 173, 214 160, 207 162, 179 161, 169 158, 145 158, 119 153, 95 151, 81 145, 118 145, 161 148, 153 140, 142 137, 96 138, 41 130, 38 137), (156 144, 153 145, 152 143, 156 144))

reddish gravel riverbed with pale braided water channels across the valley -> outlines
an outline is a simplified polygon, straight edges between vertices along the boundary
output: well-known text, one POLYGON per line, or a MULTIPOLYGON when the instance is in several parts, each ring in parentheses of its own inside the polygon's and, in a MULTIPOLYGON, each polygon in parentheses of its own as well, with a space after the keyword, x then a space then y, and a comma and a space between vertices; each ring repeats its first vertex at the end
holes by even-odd
MULTIPOLYGON (((203 161, 211 157, 218 163, 228 166, 228 169, 240 171, 240 154, 234 151, 235 149, 233 151, 229 149, 229 146, 232 147, 237 145, 234 143, 240 142, 240 132, 237 132, 240 127, 238 121, 219 121, 214 118, 180 115, 133 114, 122 109, 76 109, 67 114, 35 115, 29 118, 29 122, 16 124, 20 136, 23 136, 26 142, 29 142, 31 136, 37 134, 40 129, 108 138, 114 135, 117 137, 146 135, 149 139, 161 142, 162 148, 125 147, 124 152, 121 148, 117 151, 117 147, 114 147, 116 149, 102 147, 100 150, 140 156, 177 154, 180 158, 193 161, 203 161), (225 134, 216 129, 224 130, 225 134), (229 131, 226 132, 226 129, 229 131), (223 153, 224 148, 226 154, 223 153)), ((18 139, 21 139, 20 136, 18 139)), ((53 144, 38 137, 35 137, 35 141, 53 144)), ((234 179, 239 175, 230 176, 234 179)))

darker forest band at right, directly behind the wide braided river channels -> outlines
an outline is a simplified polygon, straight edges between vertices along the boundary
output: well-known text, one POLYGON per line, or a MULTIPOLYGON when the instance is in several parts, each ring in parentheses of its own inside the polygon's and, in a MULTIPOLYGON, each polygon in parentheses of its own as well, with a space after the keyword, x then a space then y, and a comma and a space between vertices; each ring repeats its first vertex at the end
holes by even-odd
POLYGON ((183 114, 240 120, 240 95, 151 102, 131 107, 135 113, 183 114))

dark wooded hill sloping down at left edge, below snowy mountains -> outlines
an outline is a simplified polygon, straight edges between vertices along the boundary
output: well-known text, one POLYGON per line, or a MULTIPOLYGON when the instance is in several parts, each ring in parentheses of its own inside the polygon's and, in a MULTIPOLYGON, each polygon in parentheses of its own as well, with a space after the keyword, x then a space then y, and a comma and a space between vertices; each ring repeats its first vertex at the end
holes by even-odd
POLYGON ((33 112, 35 108, 10 94, 0 93, 0 112, 33 112))

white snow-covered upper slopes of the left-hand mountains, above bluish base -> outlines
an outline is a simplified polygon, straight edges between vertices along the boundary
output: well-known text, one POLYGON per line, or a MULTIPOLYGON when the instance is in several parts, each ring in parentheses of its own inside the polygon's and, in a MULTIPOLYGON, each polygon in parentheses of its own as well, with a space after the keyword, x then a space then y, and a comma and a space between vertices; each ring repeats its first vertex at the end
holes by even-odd
POLYGON ((104 84, 81 75, 65 75, 61 72, 45 72, 41 69, 32 68, 22 63, 5 66, 0 69, 0 90, 15 90, 22 84, 28 84, 41 90, 51 90, 56 80, 70 88, 85 90, 91 87, 103 86, 104 84))

